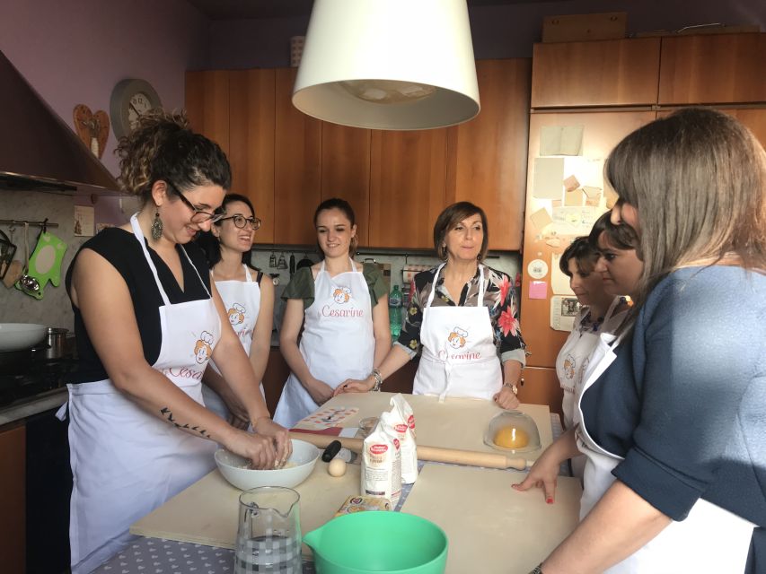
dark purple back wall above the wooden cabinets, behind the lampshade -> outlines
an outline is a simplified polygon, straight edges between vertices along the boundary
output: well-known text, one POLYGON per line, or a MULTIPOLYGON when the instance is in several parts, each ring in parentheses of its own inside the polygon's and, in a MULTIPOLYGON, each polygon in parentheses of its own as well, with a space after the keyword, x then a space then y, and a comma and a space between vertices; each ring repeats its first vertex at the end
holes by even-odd
MULTIPOLYGON (((766 30, 763 0, 569 0, 470 9, 477 58, 531 57, 545 16, 627 12, 630 33, 678 30, 692 24, 759 24, 766 30)), ((290 64, 290 37, 305 34, 308 17, 216 21, 211 26, 209 69, 281 67, 290 64)), ((392 31, 392 39, 395 37, 392 31)))

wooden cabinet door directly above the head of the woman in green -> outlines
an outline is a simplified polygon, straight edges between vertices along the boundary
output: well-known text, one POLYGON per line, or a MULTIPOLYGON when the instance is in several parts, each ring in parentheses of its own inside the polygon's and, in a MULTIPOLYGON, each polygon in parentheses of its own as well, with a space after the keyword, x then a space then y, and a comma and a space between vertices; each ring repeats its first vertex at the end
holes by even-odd
POLYGON ((368 245, 370 130, 321 123, 321 201, 345 199, 357 216, 359 245, 368 245))

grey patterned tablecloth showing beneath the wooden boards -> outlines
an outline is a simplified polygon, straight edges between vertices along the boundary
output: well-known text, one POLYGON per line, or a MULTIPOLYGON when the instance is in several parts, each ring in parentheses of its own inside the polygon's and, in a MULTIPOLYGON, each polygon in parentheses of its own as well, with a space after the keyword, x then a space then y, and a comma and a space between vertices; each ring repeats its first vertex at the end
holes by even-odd
MULTIPOLYGON (((561 434, 559 415, 550 415, 553 439, 561 434)), ((428 463, 440 464, 440 463, 428 463)), ((423 463, 418 463, 418 470, 423 463)), ((561 465, 561 474, 569 474, 568 465, 561 465)), ((412 489, 403 484, 397 510, 412 489)), ((234 571, 234 551, 216 546, 189 544, 136 536, 136 540, 110 560, 93 570, 94 574, 227 574, 234 571)), ((304 574, 314 574, 313 562, 304 561, 304 574)))

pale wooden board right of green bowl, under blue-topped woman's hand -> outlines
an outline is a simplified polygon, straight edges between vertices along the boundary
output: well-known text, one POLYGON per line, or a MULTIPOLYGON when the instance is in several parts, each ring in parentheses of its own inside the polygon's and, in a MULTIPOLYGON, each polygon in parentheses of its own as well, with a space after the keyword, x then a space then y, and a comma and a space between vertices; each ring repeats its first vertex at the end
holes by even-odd
POLYGON ((527 574, 577 526, 582 489, 559 476, 556 501, 542 491, 517 492, 526 474, 428 464, 402 512, 441 526, 449 539, 447 573, 527 574))

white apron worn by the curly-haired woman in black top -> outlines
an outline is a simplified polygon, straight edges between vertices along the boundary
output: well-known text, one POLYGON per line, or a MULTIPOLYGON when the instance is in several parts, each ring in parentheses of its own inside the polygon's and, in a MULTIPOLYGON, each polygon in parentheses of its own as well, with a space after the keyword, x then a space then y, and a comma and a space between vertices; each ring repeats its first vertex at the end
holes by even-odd
MULTIPOLYGON (((202 404, 200 380, 221 334, 216 306, 212 299, 171 304, 136 215, 130 222, 164 301, 159 309, 162 346, 152 367, 202 404)), ((125 547, 135 537, 128 526, 138 518, 213 470, 216 443, 145 412, 110 379, 68 388, 75 477, 69 540, 72 572, 80 574, 125 547)))

